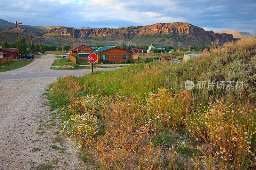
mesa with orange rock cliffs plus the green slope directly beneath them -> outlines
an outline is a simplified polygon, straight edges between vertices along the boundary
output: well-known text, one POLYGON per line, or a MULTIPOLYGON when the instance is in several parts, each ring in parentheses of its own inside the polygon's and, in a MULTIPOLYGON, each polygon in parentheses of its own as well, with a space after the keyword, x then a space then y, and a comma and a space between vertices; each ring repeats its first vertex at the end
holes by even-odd
MULTIPOLYGON (((68 27, 53 28, 45 33, 44 36, 71 38, 73 30, 68 27)), ((219 39, 220 44, 238 40, 233 38, 231 34, 204 31, 203 28, 193 26, 187 22, 157 23, 148 26, 122 28, 75 29, 75 37, 95 41, 129 41, 131 39, 141 45, 161 43, 166 46, 176 47, 188 47, 189 41, 191 41, 191 46, 202 47, 209 46, 212 41, 217 39, 219 39)))

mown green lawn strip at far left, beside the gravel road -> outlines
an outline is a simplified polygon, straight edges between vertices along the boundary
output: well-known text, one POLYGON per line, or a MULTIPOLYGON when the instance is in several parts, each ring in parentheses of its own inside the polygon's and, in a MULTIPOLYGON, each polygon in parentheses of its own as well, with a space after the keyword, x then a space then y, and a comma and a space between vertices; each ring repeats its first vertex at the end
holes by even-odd
POLYGON ((8 63, 0 64, 0 72, 15 70, 25 65, 28 65, 29 63, 32 63, 32 62, 33 62, 32 60, 26 59, 26 60, 11 61, 8 63))

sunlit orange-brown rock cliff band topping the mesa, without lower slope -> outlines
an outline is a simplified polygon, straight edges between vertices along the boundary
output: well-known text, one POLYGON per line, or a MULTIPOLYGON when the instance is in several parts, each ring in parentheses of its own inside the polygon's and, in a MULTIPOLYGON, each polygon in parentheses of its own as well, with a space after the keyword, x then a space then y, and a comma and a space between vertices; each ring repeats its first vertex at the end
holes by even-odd
MULTIPOLYGON (((157 23, 148 26, 129 26, 122 28, 97 28, 97 29, 75 29, 75 37, 81 39, 95 39, 95 38, 110 38, 112 40, 121 40, 124 38, 134 38, 143 35, 164 35, 164 34, 188 34, 195 36, 197 39, 206 41, 208 43, 219 39, 219 43, 223 44, 228 41, 236 41, 233 35, 227 33, 213 33, 213 31, 204 31, 203 28, 193 26, 187 22, 176 23, 157 23)), ((72 37, 73 29, 67 27, 60 27, 51 29, 44 36, 65 36, 72 37)))

